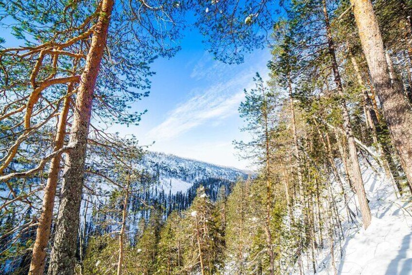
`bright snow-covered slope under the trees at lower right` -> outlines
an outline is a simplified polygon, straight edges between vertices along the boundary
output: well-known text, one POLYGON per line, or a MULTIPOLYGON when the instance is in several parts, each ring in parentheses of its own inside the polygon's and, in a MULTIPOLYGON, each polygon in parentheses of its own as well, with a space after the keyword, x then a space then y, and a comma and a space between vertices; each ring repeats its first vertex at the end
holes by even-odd
MULTIPOLYGON (((365 189, 370 200, 372 223, 364 230, 345 220, 344 240, 335 245, 335 265, 339 275, 412 275, 411 197, 396 198, 393 185, 382 171, 361 162, 365 189), (342 253, 341 253, 341 251, 342 253)), ((375 167, 377 167, 375 165, 375 167)), ((356 209, 353 199, 349 204, 356 209)), ((341 211, 345 211, 342 207, 341 211)), ((346 216, 346 214, 345 214, 346 216)), ((335 274, 325 247, 318 257, 318 273, 335 274)), ((311 270, 308 274, 313 274, 311 270)))

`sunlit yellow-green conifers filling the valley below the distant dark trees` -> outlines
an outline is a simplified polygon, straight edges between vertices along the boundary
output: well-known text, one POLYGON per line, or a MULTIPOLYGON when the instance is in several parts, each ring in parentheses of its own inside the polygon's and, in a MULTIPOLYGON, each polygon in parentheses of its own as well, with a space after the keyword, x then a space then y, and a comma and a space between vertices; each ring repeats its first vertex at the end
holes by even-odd
MULTIPOLYGON (((135 245, 124 248, 128 274, 264 274, 269 259, 263 229, 265 203, 261 181, 240 181, 228 195, 221 187, 217 201, 200 186, 186 211, 173 211, 166 221, 156 207, 142 219, 135 245), (258 200, 261 198, 261 200, 258 200), (263 273, 262 273, 263 272, 263 273)), ((273 217, 282 220, 279 204, 273 217)), ((277 220, 277 219, 276 219, 277 220)), ((279 227, 279 236, 281 235, 279 227)), ((84 274, 111 274, 117 267, 119 243, 110 235, 91 237, 84 274)), ((280 247, 277 253, 280 253, 280 247)))

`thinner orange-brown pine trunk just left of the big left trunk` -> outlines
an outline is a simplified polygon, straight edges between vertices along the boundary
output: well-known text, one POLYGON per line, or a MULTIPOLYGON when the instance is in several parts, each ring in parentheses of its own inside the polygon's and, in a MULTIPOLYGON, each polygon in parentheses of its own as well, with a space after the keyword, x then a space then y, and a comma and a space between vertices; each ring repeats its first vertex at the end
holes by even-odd
MULTIPOLYGON (((64 145, 66 136, 67 117, 70 108, 70 96, 73 92, 73 83, 69 83, 67 97, 63 103, 63 109, 60 112, 59 124, 57 126, 56 136, 54 138, 53 151, 61 149, 64 145)), ((36 239, 34 241, 32 261, 30 263, 29 275, 43 275, 46 259, 46 250, 50 238, 51 220, 53 218, 54 197, 56 194, 57 183, 59 180, 61 155, 57 155, 51 160, 49 176, 44 189, 43 204, 36 239)))

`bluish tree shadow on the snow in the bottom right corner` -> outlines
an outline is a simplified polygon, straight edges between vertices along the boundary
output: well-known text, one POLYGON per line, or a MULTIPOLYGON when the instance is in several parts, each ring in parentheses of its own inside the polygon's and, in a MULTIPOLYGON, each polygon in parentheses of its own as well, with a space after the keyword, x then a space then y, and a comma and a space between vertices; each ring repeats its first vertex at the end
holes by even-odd
POLYGON ((410 275, 412 274, 412 258, 406 258, 407 251, 411 243, 411 234, 406 235, 402 240, 402 246, 398 255, 391 261, 385 275, 410 275), (400 268, 400 270, 399 270, 400 268))

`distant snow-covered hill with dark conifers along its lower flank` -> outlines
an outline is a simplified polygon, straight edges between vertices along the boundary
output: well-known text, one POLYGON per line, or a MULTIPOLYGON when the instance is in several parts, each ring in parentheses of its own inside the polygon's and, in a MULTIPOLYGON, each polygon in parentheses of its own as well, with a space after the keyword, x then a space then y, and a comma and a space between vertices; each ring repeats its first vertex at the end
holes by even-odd
MULTIPOLYGON (((173 210, 182 211, 187 209, 196 196, 196 189, 203 185, 206 189, 206 194, 211 200, 216 200, 219 189, 226 187, 226 193, 230 191, 232 186, 238 179, 245 179, 248 174, 240 169, 213 165, 197 160, 177 157, 175 155, 147 152, 141 162, 139 168, 149 174, 151 179, 149 183, 136 182, 132 183, 132 195, 128 204, 128 234, 133 240, 138 227, 138 222, 142 218, 146 221, 151 214, 151 207, 162 211, 164 219, 166 219, 173 210)), ((101 196, 94 196, 92 201, 101 208, 107 200, 110 200, 110 195, 117 190, 117 186, 113 184, 98 183, 95 189, 101 196)), ((81 209, 81 222, 84 225, 86 222, 86 236, 94 234, 95 231, 103 232, 99 227, 99 223, 104 223, 106 220, 116 220, 118 218, 111 217, 105 213, 93 211, 92 207, 87 207, 88 202, 84 201, 81 209), (93 215, 93 213, 95 213, 93 215), (86 217, 86 219, 84 218, 86 217)), ((119 220, 116 221, 119 223, 119 220)), ((114 231, 118 225, 108 227, 107 232, 114 231)), ((86 240, 87 241, 87 240, 86 240)))

